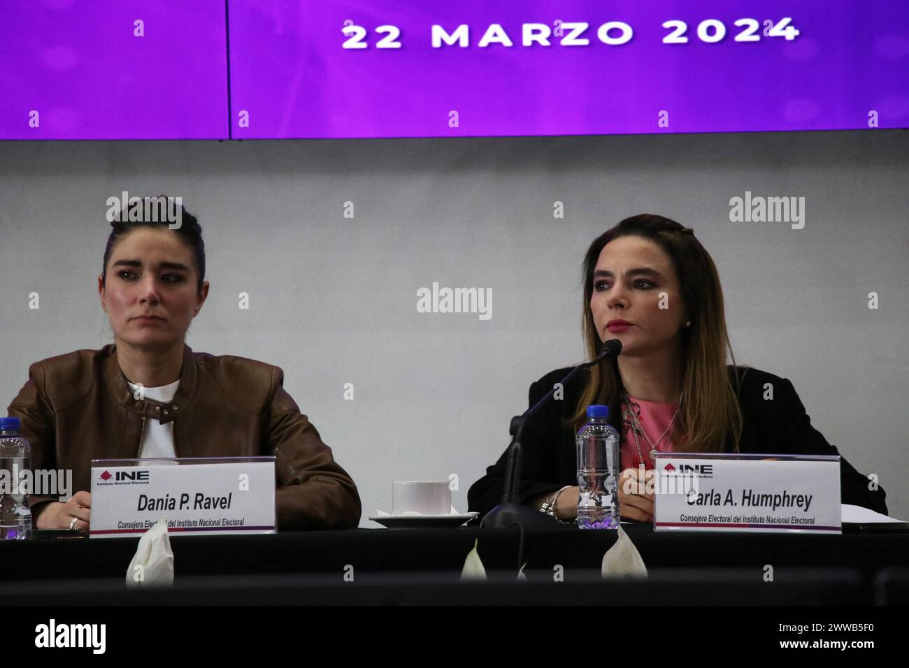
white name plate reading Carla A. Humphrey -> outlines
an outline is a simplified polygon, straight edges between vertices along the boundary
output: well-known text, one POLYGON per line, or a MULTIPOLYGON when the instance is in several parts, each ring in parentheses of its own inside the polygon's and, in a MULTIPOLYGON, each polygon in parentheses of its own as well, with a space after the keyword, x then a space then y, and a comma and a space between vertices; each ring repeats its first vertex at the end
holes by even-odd
POLYGON ((842 533, 838 455, 659 453, 654 530, 842 533))

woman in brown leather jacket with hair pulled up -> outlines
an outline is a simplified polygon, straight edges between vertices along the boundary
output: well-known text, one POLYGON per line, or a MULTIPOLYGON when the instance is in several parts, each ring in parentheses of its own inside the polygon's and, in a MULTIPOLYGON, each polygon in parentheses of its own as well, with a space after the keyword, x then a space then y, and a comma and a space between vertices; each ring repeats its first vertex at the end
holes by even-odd
POLYGON ((88 530, 93 459, 255 455, 275 456, 279 529, 355 527, 356 485, 282 370, 185 344, 209 284, 202 229, 179 206, 176 226, 142 201, 111 222, 98 294, 115 343, 35 362, 8 408, 33 469, 71 469, 78 490, 65 503, 33 496, 35 527, 88 530))

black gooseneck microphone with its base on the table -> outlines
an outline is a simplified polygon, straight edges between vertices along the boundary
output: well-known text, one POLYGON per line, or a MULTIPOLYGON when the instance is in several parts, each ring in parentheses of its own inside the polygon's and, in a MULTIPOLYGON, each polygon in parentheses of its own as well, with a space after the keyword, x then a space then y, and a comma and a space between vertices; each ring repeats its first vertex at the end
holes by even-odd
MULTIPOLYGON (((609 339, 603 344, 600 354, 589 362, 578 364, 574 367, 560 382, 561 385, 568 384, 581 369, 585 369, 594 364, 600 364, 607 357, 616 357, 622 352, 622 342, 618 339, 609 339)), ((546 526, 552 528, 555 526, 564 526, 554 517, 546 513, 540 513, 537 510, 528 508, 518 503, 518 490, 521 486, 521 436, 524 434, 524 425, 527 424, 527 418, 534 415, 545 404, 553 398, 555 387, 547 392, 536 404, 524 411, 524 414, 515 415, 512 418, 509 432, 512 434, 512 442, 508 445, 508 459, 505 464, 504 490, 502 493, 502 503, 495 506, 489 513, 486 513, 480 526, 487 526, 494 529, 504 529, 514 525, 522 526, 546 526)))

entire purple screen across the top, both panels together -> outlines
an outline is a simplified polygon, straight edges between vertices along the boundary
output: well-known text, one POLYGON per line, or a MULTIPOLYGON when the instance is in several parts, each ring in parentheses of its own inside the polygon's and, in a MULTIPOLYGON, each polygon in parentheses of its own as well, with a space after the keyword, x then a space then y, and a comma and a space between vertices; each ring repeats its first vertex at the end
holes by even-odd
POLYGON ((904 0, 0 2, 5 139, 907 127, 907 73, 904 0))

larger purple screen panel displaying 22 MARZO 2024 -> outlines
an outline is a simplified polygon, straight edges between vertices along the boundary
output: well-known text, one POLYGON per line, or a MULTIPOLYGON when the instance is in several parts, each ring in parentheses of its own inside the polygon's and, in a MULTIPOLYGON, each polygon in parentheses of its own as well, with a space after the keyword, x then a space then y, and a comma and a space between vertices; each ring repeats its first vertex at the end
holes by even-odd
MULTIPOLYGON (((909 125, 905 0, 229 5, 235 138, 846 129, 868 128, 872 112, 880 127, 909 125), (766 21, 784 17, 799 35, 764 35, 766 21), (735 41, 746 18, 758 22, 758 41, 735 41), (706 19, 724 25, 722 40, 698 37, 706 19), (522 24, 554 29, 556 20, 588 23, 590 44, 522 45, 522 24), (669 20, 685 22, 687 43, 663 43, 669 20), (367 48, 342 48, 345 21, 367 31, 367 48), (609 21, 629 25, 631 40, 601 42, 609 21), (479 46, 495 23, 513 46, 479 46), (433 48, 434 24, 449 33, 468 25, 469 46, 433 48), (399 48, 377 48, 380 25, 400 30, 399 48)), ((715 37, 712 25, 704 30, 715 37)))

